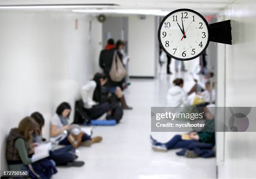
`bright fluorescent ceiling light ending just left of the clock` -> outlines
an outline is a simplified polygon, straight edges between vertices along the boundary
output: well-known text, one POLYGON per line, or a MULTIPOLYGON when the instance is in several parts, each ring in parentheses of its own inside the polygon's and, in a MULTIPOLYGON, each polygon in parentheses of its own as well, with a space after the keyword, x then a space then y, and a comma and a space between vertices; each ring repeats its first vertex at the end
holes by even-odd
POLYGON ((76 13, 105 13, 105 14, 143 14, 156 15, 163 12, 159 9, 77 9, 72 10, 76 13))

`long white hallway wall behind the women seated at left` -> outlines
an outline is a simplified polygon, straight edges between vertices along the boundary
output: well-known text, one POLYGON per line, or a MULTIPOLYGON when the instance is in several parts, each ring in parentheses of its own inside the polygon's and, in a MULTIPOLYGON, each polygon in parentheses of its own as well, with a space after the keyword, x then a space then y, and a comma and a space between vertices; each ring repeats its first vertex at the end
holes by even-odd
MULTIPOLYGON (((49 12, 0 12, 0 24, 3 170, 5 139, 23 117, 41 112, 46 119, 43 135, 48 138, 56 106, 68 101, 74 109, 80 87, 99 70, 102 24, 89 15, 49 12)), ((73 116, 72 112, 70 121, 73 116)))

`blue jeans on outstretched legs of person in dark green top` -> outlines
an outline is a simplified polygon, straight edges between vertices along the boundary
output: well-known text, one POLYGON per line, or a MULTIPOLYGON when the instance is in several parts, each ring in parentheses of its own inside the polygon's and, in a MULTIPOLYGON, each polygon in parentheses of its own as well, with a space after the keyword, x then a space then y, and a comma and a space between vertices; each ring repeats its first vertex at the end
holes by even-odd
POLYGON ((189 146, 196 140, 182 140, 181 135, 175 135, 170 141, 164 143, 167 149, 179 149, 189 146))

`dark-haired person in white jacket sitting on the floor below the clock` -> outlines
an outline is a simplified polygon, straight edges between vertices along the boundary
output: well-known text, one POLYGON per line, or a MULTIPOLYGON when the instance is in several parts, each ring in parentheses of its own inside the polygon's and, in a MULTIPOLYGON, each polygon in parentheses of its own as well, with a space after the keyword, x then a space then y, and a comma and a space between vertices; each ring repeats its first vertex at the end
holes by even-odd
POLYGON ((187 92, 184 91, 184 80, 177 78, 173 81, 174 87, 170 88, 167 93, 167 106, 169 107, 184 107, 189 106, 187 100, 187 92))

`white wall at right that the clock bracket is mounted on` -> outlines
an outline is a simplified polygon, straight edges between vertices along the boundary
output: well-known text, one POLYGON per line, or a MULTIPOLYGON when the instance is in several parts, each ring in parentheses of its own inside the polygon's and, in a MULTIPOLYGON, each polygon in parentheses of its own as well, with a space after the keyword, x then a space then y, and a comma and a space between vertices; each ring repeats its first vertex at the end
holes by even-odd
MULTIPOLYGON (((218 80, 223 84, 218 87, 220 105, 256 106, 255 9, 255 0, 235 0, 220 13, 224 20, 232 20, 233 40, 233 45, 218 44, 218 80)), ((219 178, 256 178, 255 136, 254 132, 221 135, 224 146, 222 152, 217 150, 217 159, 222 159, 219 178)))

